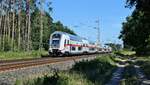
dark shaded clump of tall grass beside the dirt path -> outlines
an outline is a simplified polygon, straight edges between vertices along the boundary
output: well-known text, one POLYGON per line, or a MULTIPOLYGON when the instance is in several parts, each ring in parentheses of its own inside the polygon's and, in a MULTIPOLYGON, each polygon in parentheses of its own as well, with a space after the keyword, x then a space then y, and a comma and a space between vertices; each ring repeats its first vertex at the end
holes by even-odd
POLYGON ((111 56, 98 57, 92 61, 82 61, 77 63, 72 70, 83 74, 95 85, 104 84, 109 81, 115 62, 111 56))

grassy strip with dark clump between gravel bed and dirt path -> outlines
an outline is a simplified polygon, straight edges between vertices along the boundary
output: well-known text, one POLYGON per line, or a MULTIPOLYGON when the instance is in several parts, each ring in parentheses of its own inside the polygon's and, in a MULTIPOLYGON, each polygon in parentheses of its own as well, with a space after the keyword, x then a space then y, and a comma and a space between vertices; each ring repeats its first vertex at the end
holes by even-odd
POLYGON ((16 85, 104 85, 116 68, 113 57, 103 56, 76 63, 70 71, 36 79, 18 80, 16 85))

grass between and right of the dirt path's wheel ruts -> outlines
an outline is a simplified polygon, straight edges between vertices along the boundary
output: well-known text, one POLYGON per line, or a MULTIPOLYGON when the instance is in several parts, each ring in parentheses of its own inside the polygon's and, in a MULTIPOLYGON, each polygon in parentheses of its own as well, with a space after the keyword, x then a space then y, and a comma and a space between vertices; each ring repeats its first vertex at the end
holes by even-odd
POLYGON ((120 82, 120 85, 141 85, 141 81, 138 78, 138 73, 136 73, 134 65, 140 66, 146 77, 150 79, 149 56, 137 56, 133 51, 119 51, 115 54, 123 56, 123 58, 126 59, 127 63, 129 64, 127 67, 125 67, 123 79, 120 82), (130 61, 130 59, 135 59, 135 62, 130 61))

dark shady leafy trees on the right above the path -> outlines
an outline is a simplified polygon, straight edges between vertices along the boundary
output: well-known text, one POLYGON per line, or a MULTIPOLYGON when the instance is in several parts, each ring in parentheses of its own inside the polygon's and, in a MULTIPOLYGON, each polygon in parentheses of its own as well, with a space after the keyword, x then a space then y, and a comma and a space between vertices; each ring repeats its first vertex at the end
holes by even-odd
POLYGON ((140 55, 150 54, 150 0, 127 0, 126 7, 134 11, 122 23, 119 38, 125 48, 140 55))

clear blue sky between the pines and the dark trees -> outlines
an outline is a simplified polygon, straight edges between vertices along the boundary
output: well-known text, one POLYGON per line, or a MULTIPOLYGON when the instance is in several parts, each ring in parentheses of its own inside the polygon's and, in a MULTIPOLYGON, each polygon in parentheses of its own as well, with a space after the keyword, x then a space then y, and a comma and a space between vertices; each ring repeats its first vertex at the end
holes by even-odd
POLYGON ((79 36, 96 41, 97 32, 93 29, 100 19, 101 43, 122 43, 118 39, 121 23, 132 10, 125 8, 125 0, 53 0, 52 17, 70 27, 79 36), (75 27, 79 26, 79 27, 75 27))

